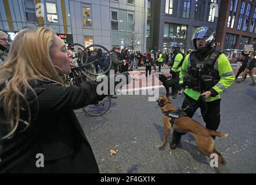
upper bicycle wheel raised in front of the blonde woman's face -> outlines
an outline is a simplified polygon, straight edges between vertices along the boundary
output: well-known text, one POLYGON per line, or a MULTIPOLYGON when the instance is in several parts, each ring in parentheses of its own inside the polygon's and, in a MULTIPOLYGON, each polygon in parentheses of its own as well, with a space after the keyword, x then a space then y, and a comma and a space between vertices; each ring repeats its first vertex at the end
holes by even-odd
POLYGON ((81 60, 84 61, 85 71, 93 76, 106 75, 112 64, 110 51, 100 45, 86 47, 82 52, 81 60))

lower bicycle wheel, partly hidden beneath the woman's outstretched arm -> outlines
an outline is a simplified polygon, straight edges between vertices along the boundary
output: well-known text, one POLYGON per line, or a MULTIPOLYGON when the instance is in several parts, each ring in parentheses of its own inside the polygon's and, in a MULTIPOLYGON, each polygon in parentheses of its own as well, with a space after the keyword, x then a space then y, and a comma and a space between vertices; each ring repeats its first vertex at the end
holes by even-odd
POLYGON ((102 116, 104 113, 106 113, 111 106, 111 98, 110 96, 104 98, 102 101, 94 104, 94 105, 88 105, 82 109, 84 109, 84 112, 89 114, 90 116, 102 116))

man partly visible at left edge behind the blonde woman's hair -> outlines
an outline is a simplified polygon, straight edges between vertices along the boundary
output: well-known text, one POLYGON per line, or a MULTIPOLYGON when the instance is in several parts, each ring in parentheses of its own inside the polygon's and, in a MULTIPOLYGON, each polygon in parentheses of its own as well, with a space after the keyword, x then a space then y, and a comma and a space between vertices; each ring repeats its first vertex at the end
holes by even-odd
POLYGON ((9 39, 5 32, 0 31, 0 66, 5 64, 9 51, 9 39))

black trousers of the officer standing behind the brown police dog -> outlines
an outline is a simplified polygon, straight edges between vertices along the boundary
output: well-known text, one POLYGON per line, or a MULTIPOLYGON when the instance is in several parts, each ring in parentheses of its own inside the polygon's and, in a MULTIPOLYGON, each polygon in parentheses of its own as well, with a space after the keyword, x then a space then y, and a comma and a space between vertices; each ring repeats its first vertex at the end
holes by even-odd
MULTIPOLYGON (((190 97, 188 97, 188 95, 186 95, 186 99, 183 101, 182 108, 184 109, 188 105, 190 105, 190 108, 192 108, 192 109, 186 110, 186 114, 188 114, 189 117, 192 118, 194 115, 194 112, 196 112, 196 110, 198 108, 200 108, 201 114, 202 115, 204 114, 203 120, 206 124, 205 127, 207 129, 217 131, 217 129, 219 127, 219 123, 221 122, 221 114, 220 114, 221 99, 217 99, 212 102, 206 102, 206 105, 207 105, 207 109, 206 109, 202 100, 196 101, 193 98, 190 98, 190 97), (207 110, 206 113, 205 113, 205 110, 207 110)), ((182 135, 184 135, 184 134, 181 134, 174 130, 174 132, 172 134, 172 142, 178 144, 179 141, 181 140, 182 135)), ((215 136, 212 136, 212 138, 215 139, 215 136)))

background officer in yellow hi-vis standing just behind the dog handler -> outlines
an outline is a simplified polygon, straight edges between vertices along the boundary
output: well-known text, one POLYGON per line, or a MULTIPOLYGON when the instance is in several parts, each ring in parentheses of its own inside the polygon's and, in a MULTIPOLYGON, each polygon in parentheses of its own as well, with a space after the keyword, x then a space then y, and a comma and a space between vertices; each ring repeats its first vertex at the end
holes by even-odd
POLYGON ((181 46, 176 43, 172 45, 172 68, 170 73, 172 75, 172 79, 174 80, 174 86, 172 86, 172 95, 173 99, 177 98, 178 90, 179 90, 179 73, 181 72, 181 66, 183 62, 183 58, 185 58, 184 54, 181 51, 181 46))

